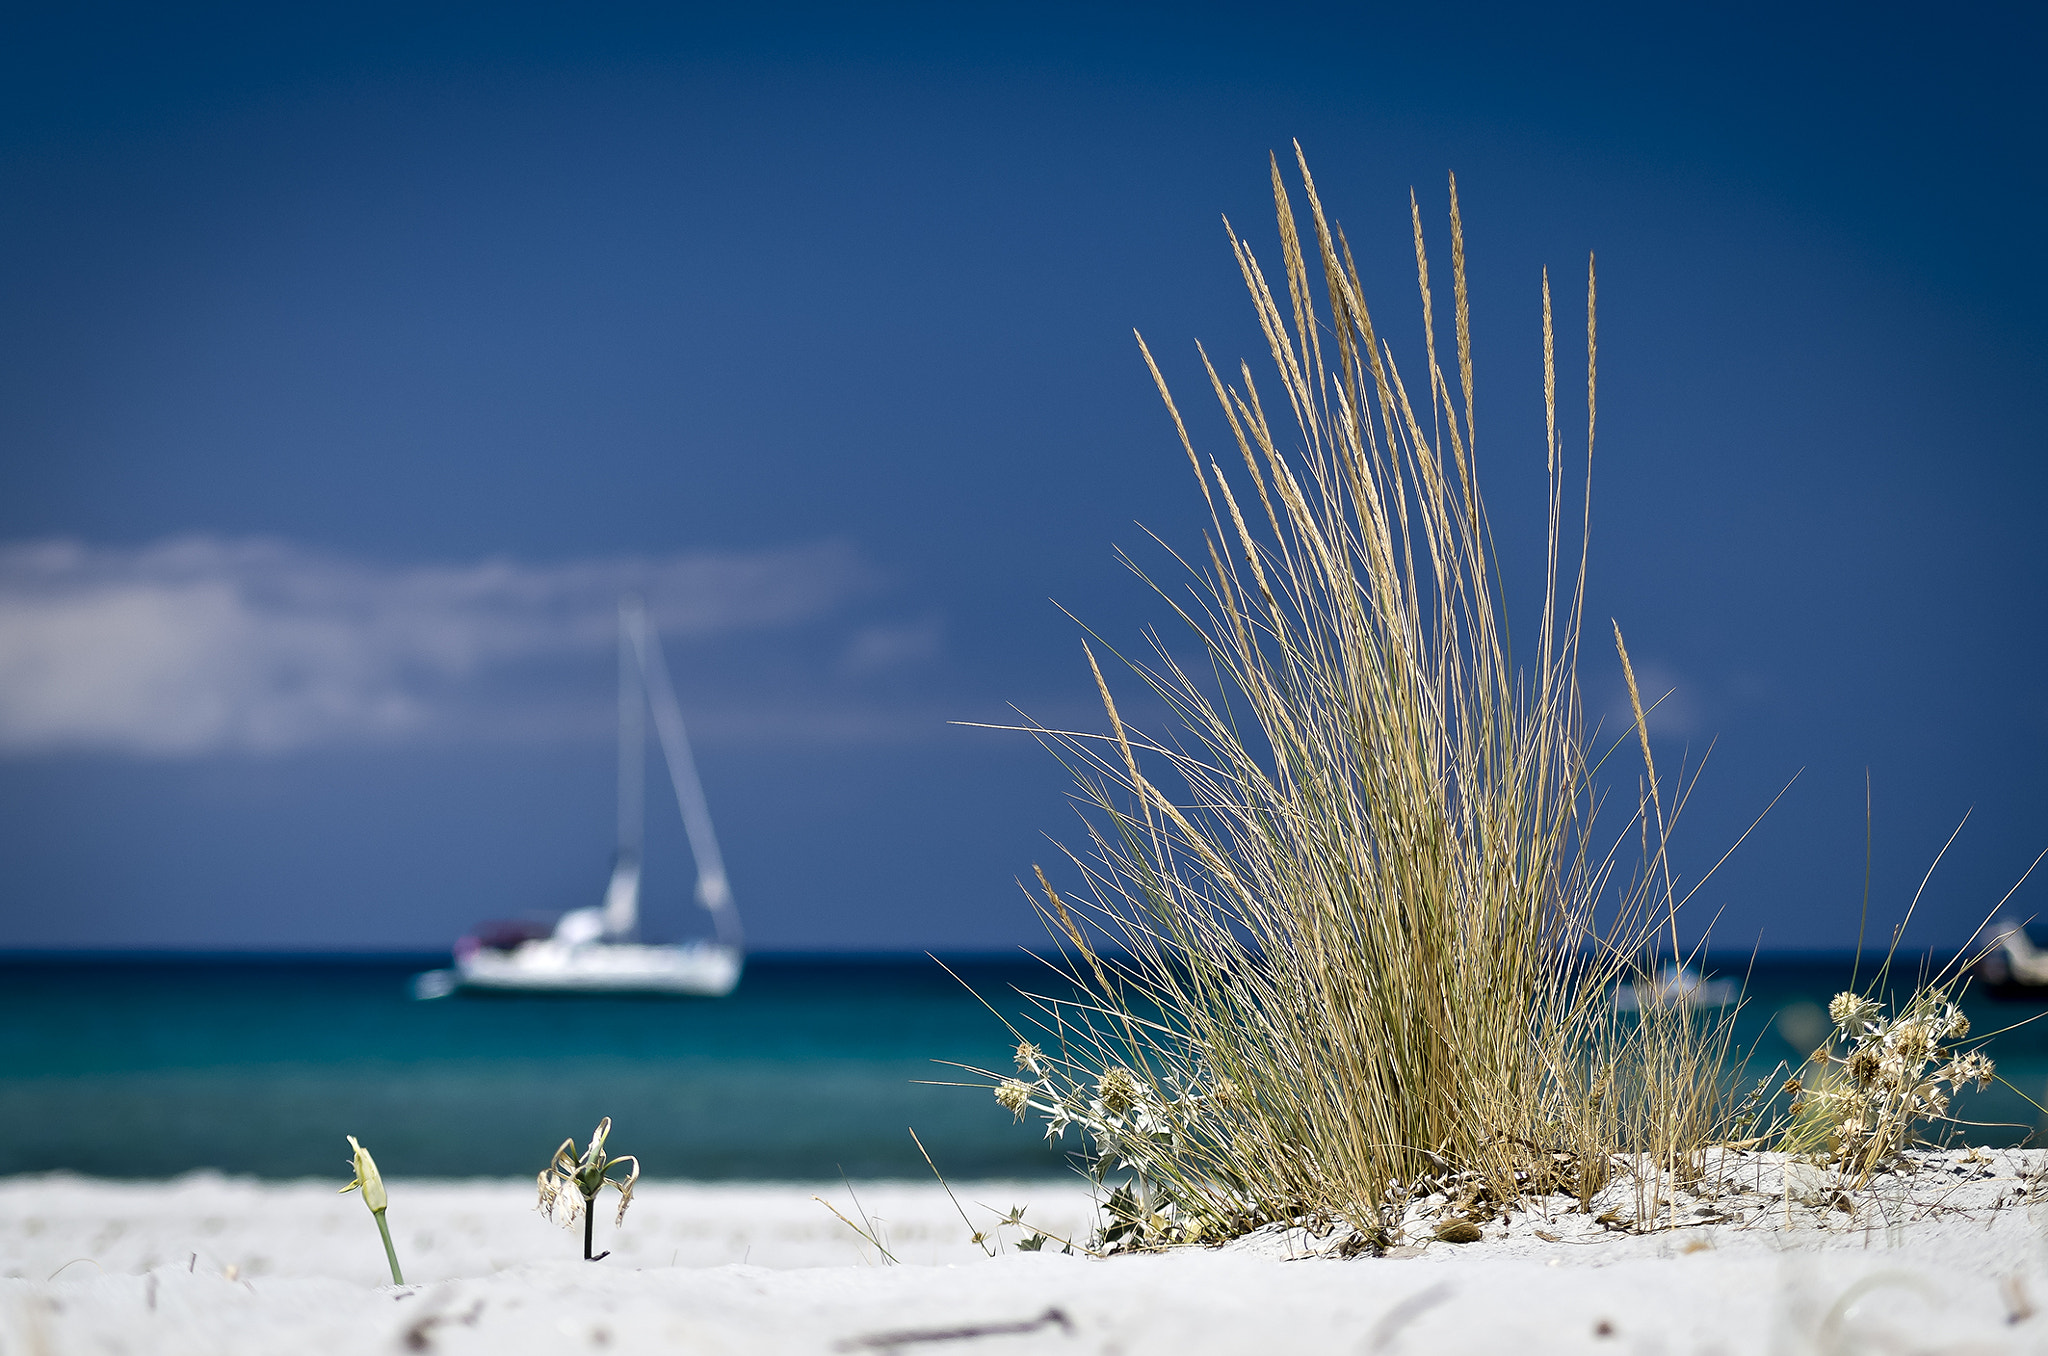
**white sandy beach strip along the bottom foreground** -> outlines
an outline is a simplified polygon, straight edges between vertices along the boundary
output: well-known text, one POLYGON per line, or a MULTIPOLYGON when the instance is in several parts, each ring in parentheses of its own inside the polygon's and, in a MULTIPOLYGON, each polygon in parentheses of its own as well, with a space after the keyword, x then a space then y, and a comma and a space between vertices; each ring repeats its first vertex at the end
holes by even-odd
MULTIPOLYGON (((852 1215, 844 1184, 647 1184, 623 1229, 600 1217, 612 1256, 588 1264, 526 1182, 391 1182, 408 1286, 336 1182, 12 1178, 0 1354, 2038 1352, 2042 1166, 1937 1159, 1853 1213, 1804 1184, 1788 1206, 1757 1174, 1759 1190, 1681 1202, 1702 1223, 1679 1229, 1536 1211, 1479 1243, 1354 1260, 1300 1229, 987 1258, 936 1184, 856 1184, 895 1266, 811 1200, 852 1215)), ((977 1223, 1014 1204, 1055 1233, 1090 1219, 1079 1186, 954 1190, 977 1223)))

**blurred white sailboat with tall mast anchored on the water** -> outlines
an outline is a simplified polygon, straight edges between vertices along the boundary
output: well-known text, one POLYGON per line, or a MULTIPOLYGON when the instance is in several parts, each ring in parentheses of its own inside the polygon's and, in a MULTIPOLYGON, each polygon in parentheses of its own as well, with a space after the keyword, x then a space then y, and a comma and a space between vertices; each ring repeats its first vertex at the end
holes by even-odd
POLYGON ((604 903, 569 909, 553 926, 485 924, 455 944, 455 969, 414 977, 416 998, 459 989, 502 993, 680 993, 723 998, 739 983, 745 950, 725 858, 711 830, 705 787, 690 758, 662 643, 639 600, 618 604, 618 852, 604 903), (717 938, 647 944, 639 936, 641 840, 645 830, 647 729, 653 713, 662 760, 696 858, 696 901, 717 938))

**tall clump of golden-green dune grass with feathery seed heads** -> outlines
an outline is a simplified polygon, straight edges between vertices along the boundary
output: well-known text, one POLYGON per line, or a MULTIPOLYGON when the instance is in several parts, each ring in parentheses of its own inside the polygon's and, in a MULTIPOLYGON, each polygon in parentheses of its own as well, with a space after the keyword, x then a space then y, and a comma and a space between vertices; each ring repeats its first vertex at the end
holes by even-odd
MULTIPOLYGON (((1231 231, 1272 371, 1262 385, 1198 350, 1223 451, 1198 447, 1139 340, 1208 528, 1200 551, 1174 553, 1178 582, 1133 563, 1176 633, 1145 653, 1085 645, 1108 729, 1034 727, 1087 807, 1077 885, 1040 873, 1034 895, 1079 998, 1040 998, 1044 1045, 1020 1034, 995 1096, 1053 1137, 1075 1131, 1106 1182, 1106 1245, 1280 1219, 1380 1245, 1425 1180, 1475 1184, 1479 1221, 1526 1194, 1587 1200, 1616 1170, 1645 1184, 1649 1223, 1735 1108, 1729 1018, 1677 998, 1614 1004, 1620 983, 1655 995, 1657 967, 1690 959, 1665 856, 1686 789, 1659 780, 1647 735, 1624 733, 1638 795, 1599 846, 1577 678, 1591 260, 1583 465, 1561 430, 1542 279, 1546 444, 1520 455, 1548 467, 1546 545, 1511 645, 1509 563, 1479 492, 1456 180, 1454 367, 1413 197, 1423 344, 1403 365, 1298 147, 1296 164, 1307 219, 1272 168, 1278 272, 1231 231), (1163 729, 1124 719, 1098 651, 1163 729)), ((1618 627, 1614 641, 1640 731, 1618 627)))

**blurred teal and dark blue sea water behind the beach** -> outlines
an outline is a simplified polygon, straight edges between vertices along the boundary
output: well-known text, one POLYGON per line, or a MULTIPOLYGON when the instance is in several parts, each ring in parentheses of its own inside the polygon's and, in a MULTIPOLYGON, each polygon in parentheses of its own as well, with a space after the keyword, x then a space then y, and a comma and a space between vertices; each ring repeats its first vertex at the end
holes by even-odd
MULTIPOLYGON (((1030 961, 952 961, 954 979, 926 957, 758 957, 711 1002, 414 1002, 440 961, 0 961, 0 1174, 346 1178, 356 1135, 389 1176, 524 1176, 598 1116, 659 1178, 928 1178, 911 1127, 948 1178, 1069 1170, 985 1088, 932 1086, 969 1079, 944 1061, 1008 1067, 977 993, 1018 1020, 1014 989, 1051 979, 1030 961)), ((1747 973, 1753 1075, 1849 979, 1847 959, 1710 969, 1747 973)), ((2038 1012, 1966 1008, 1978 1032, 2038 1012)), ((1970 1139, 2019 1143, 2040 1127, 2025 1098, 2048 1102, 2048 1022, 1989 1053, 2017 1090, 1958 1110, 1970 1139)))

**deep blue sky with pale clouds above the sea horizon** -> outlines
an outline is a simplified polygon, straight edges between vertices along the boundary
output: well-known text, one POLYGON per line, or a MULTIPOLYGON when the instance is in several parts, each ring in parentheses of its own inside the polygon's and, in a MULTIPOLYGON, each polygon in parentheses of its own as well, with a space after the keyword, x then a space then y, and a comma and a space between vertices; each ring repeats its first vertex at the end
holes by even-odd
POLYGON ((621 588, 760 946, 1032 940, 1061 772, 948 721, 1096 719, 1053 600, 1159 621, 1112 551, 1198 496, 1130 332, 1190 406, 1260 354, 1221 217, 1272 252, 1296 137, 1397 344, 1458 174, 1509 580, 1538 274, 1597 252, 1591 612, 1714 746, 1686 864, 1798 774, 1696 926, 1849 944, 1868 768, 1880 922, 1974 807, 1960 940, 2048 846, 2040 25, 1413 8, 4 20, 0 946, 590 901, 621 588))

